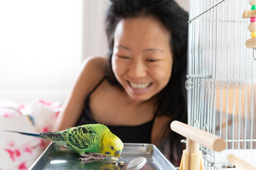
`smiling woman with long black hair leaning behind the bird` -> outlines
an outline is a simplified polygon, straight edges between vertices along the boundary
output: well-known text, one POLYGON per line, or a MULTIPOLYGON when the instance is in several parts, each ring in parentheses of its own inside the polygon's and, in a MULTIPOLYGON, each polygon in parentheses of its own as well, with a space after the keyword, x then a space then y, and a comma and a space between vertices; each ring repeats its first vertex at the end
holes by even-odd
POLYGON ((187 121, 187 21, 173 0, 111 0, 108 59, 84 61, 53 130, 101 123, 124 143, 155 144, 179 164, 170 123, 187 121))

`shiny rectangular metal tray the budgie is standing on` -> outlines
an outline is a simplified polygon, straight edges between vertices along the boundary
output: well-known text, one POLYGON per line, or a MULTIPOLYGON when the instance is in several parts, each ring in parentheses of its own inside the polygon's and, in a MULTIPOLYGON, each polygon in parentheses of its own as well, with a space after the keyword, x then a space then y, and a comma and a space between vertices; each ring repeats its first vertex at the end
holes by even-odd
POLYGON ((146 164, 141 170, 157 169, 157 170, 176 170, 175 166, 164 157, 164 155, 153 144, 131 144, 124 143, 124 149, 121 157, 116 162, 111 157, 104 160, 93 160, 93 162, 78 161, 81 156, 62 145, 51 143, 40 157, 34 162, 29 170, 53 170, 53 169, 109 169, 109 170, 125 170, 132 159, 137 157, 145 157, 146 164), (120 161, 124 161, 124 165, 120 165, 120 161), (115 164, 118 163, 118 166, 115 164))

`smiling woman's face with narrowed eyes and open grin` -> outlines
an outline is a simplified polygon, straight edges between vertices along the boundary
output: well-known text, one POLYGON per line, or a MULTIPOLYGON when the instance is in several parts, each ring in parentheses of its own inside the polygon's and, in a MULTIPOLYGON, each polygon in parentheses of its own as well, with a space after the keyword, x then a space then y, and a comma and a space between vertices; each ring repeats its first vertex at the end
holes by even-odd
POLYGON ((122 19, 116 26, 112 70, 134 100, 160 92, 172 73, 170 32, 154 17, 122 19))

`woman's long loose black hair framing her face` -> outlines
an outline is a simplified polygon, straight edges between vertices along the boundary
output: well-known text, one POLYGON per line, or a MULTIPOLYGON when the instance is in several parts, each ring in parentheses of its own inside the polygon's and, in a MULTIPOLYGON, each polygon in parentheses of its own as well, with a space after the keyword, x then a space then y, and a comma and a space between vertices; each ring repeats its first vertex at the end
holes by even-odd
MULTIPOLYGON (((168 84, 159 92, 156 116, 169 116, 171 121, 165 133, 169 134, 170 160, 174 163, 176 154, 181 158, 180 135, 170 130, 174 120, 187 123, 187 97, 185 90, 188 13, 179 7, 174 0, 110 0, 106 12, 106 33, 108 38, 108 66, 106 75, 112 85, 120 85, 111 66, 114 46, 114 32, 117 23, 124 18, 155 16, 171 32, 171 50, 173 57, 172 75, 168 84), (175 153, 174 153, 175 151, 175 153)), ((121 85, 120 85, 121 86, 121 85)))

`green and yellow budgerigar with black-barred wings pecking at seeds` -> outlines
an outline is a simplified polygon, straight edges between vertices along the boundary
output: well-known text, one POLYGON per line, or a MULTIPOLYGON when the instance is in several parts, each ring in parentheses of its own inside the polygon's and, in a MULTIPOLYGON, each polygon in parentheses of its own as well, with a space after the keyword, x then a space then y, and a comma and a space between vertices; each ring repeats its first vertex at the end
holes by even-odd
POLYGON ((16 133, 49 139, 57 144, 67 146, 85 157, 81 158, 82 160, 103 159, 107 155, 119 158, 124 147, 123 142, 102 124, 86 124, 62 131, 39 134, 16 133))

